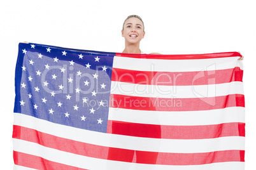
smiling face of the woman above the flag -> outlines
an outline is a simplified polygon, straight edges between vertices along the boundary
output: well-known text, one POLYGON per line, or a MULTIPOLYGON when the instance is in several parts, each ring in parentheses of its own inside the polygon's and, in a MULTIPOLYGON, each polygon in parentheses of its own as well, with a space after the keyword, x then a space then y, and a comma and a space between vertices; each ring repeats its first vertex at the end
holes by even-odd
POLYGON ((132 17, 125 21, 122 30, 122 37, 124 37, 125 42, 139 43, 144 36, 144 25, 139 18, 132 17))

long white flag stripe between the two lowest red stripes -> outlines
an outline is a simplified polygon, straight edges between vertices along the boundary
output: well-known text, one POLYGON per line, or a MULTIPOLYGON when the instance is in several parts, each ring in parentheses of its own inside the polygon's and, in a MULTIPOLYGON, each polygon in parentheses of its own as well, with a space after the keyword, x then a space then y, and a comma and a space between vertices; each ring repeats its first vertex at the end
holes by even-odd
POLYGON ((218 170, 242 170, 244 169, 244 162, 221 162, 214 164, 203 164, 196 166, 167 166, 167 165, 150 165, 150 164, 135 164, 129 162, 119 162, 113 160, 96 159, 92 157, 85 157, 82 155, 71 154, 68 152, 62 152, 48 147, 43 147, 36 143, 22 140, 13 140, 15 147, 13 148, 17 152, 23 152, 25 154, 36 155, 44 159, 58 162, 60 164, 66 164, 68 166, 75 166, 84 169, 177 169, 177 170, 204 170, 204 169, 218 169, 218 170))

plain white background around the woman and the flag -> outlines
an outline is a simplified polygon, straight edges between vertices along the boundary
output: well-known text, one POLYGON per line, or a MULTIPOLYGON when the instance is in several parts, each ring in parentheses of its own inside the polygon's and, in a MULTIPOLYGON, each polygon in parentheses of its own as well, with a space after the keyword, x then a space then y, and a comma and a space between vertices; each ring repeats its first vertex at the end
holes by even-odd
POLYGON ((145 53, 240 51, 245 59, 246 169, 255 169, 256 1, 1 1, 0 169, 12 169, 12 124, 18 42, 122 52, 122 24, 141 16, 145 53))

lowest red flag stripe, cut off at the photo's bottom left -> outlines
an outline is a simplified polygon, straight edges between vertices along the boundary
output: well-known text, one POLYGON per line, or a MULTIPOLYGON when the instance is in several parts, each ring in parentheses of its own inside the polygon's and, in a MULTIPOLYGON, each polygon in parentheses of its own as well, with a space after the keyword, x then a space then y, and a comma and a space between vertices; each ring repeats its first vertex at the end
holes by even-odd
POLYGON ((35 155, 24 154, 22 152, 13 151, 13 159, 14 159, 15 165, 29 167, 33 169, 70 169, 70 170, 81 169, 82 170, 82 168, 60 164, 47 159, 43 159, 42 157, 38 157, 35 155))

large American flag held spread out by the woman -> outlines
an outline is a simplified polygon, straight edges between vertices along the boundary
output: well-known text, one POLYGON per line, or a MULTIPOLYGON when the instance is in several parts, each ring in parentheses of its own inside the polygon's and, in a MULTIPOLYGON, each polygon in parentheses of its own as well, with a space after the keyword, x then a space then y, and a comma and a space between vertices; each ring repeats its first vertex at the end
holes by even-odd
POLYGON ((239 57, 20 43, 14 168, 244 169, 239 57))

